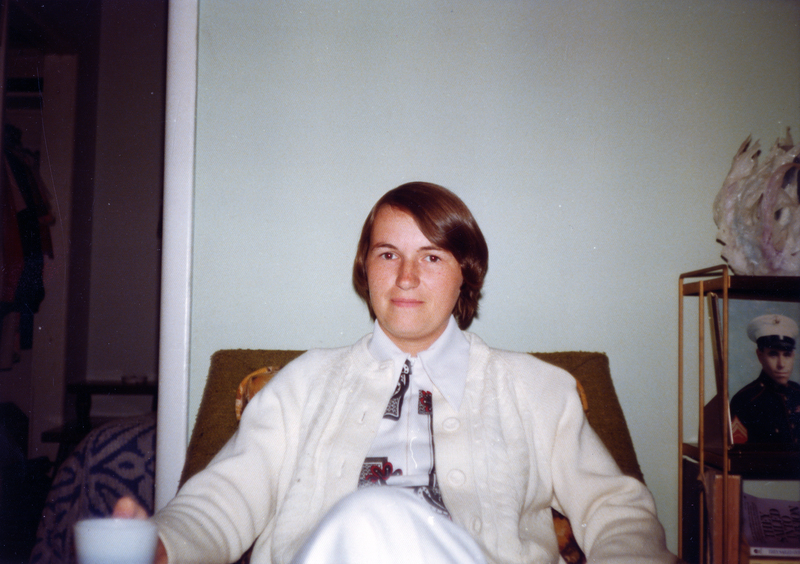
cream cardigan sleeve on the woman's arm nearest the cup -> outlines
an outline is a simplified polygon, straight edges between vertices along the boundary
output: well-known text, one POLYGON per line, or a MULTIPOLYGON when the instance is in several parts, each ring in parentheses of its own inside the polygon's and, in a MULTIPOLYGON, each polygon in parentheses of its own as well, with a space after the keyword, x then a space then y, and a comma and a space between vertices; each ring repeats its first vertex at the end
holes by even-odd
POLYGON ((233 562, 274 517, 282 474, 291 472, 284 458, 296 451, 289 419, 300 411, 296 390, 280 376, 248 404, 208 467, 153 517, 170 564, 233 562))

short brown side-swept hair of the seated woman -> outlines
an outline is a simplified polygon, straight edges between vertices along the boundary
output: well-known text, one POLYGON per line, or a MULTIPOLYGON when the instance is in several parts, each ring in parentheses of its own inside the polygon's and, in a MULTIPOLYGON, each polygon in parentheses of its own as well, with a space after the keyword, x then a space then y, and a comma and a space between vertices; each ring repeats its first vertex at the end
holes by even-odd
POLYGON ((367 255, 375 217, 384 206, 410 214, 422 234, 437 247, 452 253, 461 265, 464 282, 453 315, 458 326, 467 329, 478 315, 483 279, 489 268, 489 249, 478 222, 461 198, 428 182, 409 182, 390 190, 378 200, 364 222, 353 262, 353 287, 369 307, 370 317, 375 319, 369 299, 367 255))

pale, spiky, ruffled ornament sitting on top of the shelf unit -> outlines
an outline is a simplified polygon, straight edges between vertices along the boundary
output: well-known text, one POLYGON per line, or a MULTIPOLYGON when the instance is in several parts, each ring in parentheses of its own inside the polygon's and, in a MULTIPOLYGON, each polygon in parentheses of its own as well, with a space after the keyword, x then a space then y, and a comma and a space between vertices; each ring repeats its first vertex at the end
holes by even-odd
POLYGON ((800 144, 789 128, 759 161, 748 137, 714 200, 717 241, 735 274, 800 276, 800 144))

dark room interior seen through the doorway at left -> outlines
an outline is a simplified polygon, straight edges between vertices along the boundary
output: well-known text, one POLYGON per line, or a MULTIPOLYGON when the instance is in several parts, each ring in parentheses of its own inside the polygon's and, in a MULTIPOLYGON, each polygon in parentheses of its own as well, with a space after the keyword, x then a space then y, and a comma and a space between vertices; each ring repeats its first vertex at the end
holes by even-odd
MULTIPOLYGON (((68 386, 157 382, 167 2, 2 7, 0 562, 18 563, 58 462, 88 430, 74 434, 68 386), (8 214, 33 207, 31 245, 8 214)), ((91 424, 151 409, 96 397, 91 424)))

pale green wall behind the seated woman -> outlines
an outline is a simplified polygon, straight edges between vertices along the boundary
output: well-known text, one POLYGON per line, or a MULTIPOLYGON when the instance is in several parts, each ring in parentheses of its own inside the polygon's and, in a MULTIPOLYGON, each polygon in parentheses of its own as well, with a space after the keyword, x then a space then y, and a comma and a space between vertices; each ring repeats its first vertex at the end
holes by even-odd
POLYGON ((190 418, 223 348, 345 345, 360 225, 456 191, 491 345, 597 350, 677 546, 677 277, 748 134, 800 126, 800 2, 200 3, 190 418))

